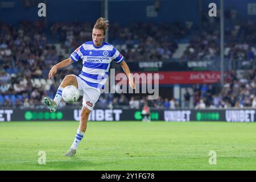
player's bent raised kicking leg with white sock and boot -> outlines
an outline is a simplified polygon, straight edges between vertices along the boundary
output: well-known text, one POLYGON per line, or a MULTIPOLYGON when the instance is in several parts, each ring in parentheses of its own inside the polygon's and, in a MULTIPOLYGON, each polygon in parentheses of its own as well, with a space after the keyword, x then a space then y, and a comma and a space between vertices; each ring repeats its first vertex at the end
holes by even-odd
POLYGON ((55 112, 62 98, 62 91, 68 85, 74 85, 78 88, 77 80, 75 75, 67 75, 64 77, 59 88, 57 89, 56 95, 52 100, 49 97, 44 97, 43 102, 51 112, 55 112))

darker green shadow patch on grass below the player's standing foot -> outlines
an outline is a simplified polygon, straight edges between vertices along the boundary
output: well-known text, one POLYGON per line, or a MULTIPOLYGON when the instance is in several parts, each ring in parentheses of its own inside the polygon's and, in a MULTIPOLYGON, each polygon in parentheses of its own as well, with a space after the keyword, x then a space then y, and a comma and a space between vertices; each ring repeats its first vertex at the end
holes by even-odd
POLYGON ((92 170, 94 167, 108 166, 112 163, 113 162, 110 161, 90 161, 89 159, 85 160, 74 156, 72 158, 65 158, 60 161, 46 162, 46 167, 50 167, 53 170, 92 170))

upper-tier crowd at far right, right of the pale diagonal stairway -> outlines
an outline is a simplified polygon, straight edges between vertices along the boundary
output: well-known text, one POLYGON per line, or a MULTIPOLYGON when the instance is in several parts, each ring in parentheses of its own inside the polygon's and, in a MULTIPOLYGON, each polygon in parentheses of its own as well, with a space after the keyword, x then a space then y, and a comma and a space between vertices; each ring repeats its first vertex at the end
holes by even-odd
MULTIPOLYGON (((225 28, 224 57, 232 60, 254 60, 256 57, 256 23, 253 21, 230 23, 225 28)), ((181 59, 219 60, 220 26, 207 23, 191 36, 181 59)))

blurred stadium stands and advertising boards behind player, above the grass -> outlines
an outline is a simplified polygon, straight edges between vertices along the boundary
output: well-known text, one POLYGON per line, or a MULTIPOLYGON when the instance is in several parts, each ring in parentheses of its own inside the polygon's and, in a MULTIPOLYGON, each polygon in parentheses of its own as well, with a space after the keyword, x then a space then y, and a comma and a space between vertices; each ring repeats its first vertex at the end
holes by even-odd
MULTIPOLYGON (((131 72, 159 73, 160 97, 102 94, 95 109, 103 116, 96 120, 118 120, 113 110, 121 110, 125 120, 141 120, 147 102, 152 120, 182 121, 189 110, 196 121, 202 113, 204 121, 228 121, 232 111, 236 114, 230 121, 255 121, 255 6, 249 0, 224 1, 221 83, 220 1, 109 0, 108 42, 125 56, 131 72), (208 16, 211 2, 217 17, 208 16), (205 108, 210 110, 198 110, 205 108), (112 116, 107 119, 106 113, 112 116)), ((72 113, 75 119, 81 98, 75 104, 61 102, 56 114, 49 114, 41 100, 55 96, 65 75, 79 74, 81 63, 60 69, 52 80, 48 72, 91 40, 92 26, 105 9, 105 1, 0 1, 1 121, 69 120, 72 113), (38 16, 40 2, 46 3, 46 17, 38 16)), ((117 64, 112 68, 122 72, 117 64)))

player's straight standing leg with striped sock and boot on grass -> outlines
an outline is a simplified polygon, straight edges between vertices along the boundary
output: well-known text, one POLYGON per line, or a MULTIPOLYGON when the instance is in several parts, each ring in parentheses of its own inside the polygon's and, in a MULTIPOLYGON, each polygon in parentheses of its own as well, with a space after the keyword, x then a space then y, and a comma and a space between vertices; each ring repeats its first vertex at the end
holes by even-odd
POLYGON ((82 106, 79 129, 77 129, 76 137, 71 148, 69 148, 68 152, 64 156, 71 157, 76 154, 77 147, 79 146, 79 143, 81 142, 82 138, 84 138, 89 114, 90 114, 90 110, 87 109, 85 106, 82 106))

